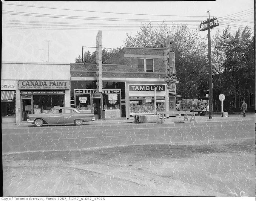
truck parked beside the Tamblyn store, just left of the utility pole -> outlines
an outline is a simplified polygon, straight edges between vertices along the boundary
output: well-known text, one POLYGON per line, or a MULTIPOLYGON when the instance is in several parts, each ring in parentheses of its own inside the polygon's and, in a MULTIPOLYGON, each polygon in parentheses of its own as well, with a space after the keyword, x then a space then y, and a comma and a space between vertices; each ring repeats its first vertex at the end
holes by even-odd
POLYGON ((205 115, 209 111, 209 105, 207 99, 181 99, 176 104, 177 111, 190 111, 193 110, 198 114, 205 115))

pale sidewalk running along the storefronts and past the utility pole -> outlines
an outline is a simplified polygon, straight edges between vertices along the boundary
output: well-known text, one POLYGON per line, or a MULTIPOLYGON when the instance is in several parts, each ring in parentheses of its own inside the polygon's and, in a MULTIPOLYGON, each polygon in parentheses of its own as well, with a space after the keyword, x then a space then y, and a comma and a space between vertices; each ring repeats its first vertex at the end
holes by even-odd
MULTIPOLYGON (((195 123, 194 121, 190 122, 191 116, 188 116, 188 120, 184 121, 184 116, 176 116, 169 117, 165 119, 164 124, 175 124, 175 122, 185 122, 187 124, 195 123)), ((209 119, 209 116, 196 116, 197 123, 216 123, 216 122, 230 122, 230 121, 254 121, 255 122, 255 114, 248 113, 247 117, 243 117, 242 114, 229 114, 228 117, 221 117, 221 113, 213 114, 213 118, 209 119)), ((107 126, 107 125, 120 125, 120 123, 125 124, 135 124, 134 119, 96 119, 94 122, 86 122, 87 125, 95 125, 95 126, 107 126)), ((136 123, 138 124, 138 123, 136 123)), ((154 123, 145 123, 145 124, 154 124, 154 123)), ((2 123, 2 129, 18 129, 18 128, 28 128, 31 126, 31 123, 21 122, 21 123, 2 123)))

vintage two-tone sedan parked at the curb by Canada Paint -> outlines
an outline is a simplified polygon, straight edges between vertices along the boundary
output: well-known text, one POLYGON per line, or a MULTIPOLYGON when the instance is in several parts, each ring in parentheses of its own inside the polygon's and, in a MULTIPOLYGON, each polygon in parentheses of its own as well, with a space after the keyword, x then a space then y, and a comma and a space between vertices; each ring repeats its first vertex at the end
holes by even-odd
POLYGON ((28 114, 28 123, 34 123, 35 126, 45 124, 65 124, 75 123, 82 125, 83 122, 94 121, 93 113, 81 113, 76 108, 56 107, 51 108, 48 113, 28 114))

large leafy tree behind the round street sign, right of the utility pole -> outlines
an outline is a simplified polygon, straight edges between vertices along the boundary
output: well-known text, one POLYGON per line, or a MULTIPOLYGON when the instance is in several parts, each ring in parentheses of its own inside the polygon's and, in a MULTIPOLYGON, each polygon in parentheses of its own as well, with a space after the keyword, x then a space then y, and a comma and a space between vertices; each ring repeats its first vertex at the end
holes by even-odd
POLYGON ((213 38, 215 77, 218 81, 214 90, 225 94, 224 106, 227 109, 239 110, 242 99, 248 101, 250 93, 255 93, 255 48, 251 34, 248 27, 238 29, 234 34, 226 27, 222 34, 217 32, 213 38))

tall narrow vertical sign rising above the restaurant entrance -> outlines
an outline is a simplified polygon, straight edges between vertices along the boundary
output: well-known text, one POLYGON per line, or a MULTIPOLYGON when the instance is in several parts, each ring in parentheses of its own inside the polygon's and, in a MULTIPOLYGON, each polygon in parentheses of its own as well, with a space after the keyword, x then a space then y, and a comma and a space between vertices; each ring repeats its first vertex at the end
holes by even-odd
POLYGON ((102 32, 96 36, 96 67, 97 67, 97 92, 102 92, 102 32))

